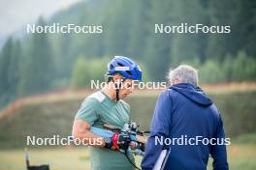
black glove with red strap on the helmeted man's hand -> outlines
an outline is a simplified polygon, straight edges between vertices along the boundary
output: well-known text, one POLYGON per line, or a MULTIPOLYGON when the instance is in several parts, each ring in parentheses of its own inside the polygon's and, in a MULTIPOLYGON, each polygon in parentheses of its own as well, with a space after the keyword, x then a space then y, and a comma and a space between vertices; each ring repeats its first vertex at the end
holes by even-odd
POLYGON ((112 137, 105 137, 104 141, 105 148, 126 151, 131 142, 131 138, 128 134, 114 133, 112 137))

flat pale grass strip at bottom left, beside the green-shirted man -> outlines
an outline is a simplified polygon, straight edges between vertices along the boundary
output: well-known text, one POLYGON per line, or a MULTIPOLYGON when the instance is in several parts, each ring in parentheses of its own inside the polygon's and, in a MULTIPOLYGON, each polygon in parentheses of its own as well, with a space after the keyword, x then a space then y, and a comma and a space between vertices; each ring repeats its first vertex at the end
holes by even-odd
MULTIPOLYGON (((49 164, 50 170, 89 169, 85 148, 42 148, 29 150, 32 165, 49 164)), ((24 151, 0 150, 0 170, 25 170, 24 151)))

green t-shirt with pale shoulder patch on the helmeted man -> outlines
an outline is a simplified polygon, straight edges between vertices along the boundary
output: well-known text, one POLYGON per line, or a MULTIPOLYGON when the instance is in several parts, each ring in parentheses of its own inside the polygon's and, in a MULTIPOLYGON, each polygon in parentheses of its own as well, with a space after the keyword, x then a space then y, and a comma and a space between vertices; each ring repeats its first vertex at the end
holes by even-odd
MULTIPOLYGON (((80 119, 92 127, 103 128, 111 124, 122 128, 129 121, 130 106, 124 100, 117 102, 103 92, 96 92, 84 99, 76 119, 80 119)), ((89 147, 91 170, 133 170, 133 165, 124 154, 99 147, 89 147)), ((134 157, 129 155, 134 161, 134 157)))

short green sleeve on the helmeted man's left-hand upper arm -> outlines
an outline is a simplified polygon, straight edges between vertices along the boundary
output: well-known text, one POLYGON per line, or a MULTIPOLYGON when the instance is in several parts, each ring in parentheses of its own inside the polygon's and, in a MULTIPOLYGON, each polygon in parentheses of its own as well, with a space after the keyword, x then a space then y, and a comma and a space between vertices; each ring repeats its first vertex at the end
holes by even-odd
POLYGON ((99 102, 96 99, 84 99, 76 115, 76 120, 81 120, 93 125, 94 122, 99 118, 97 113, 98 105, 99 102))

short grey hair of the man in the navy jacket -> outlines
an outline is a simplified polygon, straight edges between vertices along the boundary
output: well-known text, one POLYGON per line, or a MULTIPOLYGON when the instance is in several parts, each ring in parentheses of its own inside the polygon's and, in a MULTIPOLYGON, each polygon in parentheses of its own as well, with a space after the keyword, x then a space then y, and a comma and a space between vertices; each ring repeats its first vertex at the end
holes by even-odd
POLYGON ((179 65, 176 69, 169 71, 168 78, 170 81, 178 79, 183 83, 190 83, 198 86, 198 71, 188 65, 179 65))

